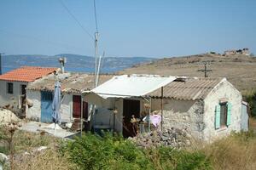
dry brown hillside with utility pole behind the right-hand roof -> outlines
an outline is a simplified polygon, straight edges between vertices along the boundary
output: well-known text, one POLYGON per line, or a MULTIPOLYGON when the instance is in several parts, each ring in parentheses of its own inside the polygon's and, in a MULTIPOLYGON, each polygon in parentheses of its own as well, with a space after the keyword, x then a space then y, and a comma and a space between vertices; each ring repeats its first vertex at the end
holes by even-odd
POLYGON ((256 88, 256 57, 247 55, 222 56, 220 54, 198 54, 154 60, 135 65, 119 73, 147 73, 173 76, 203 77, 203 62, 208 61, 209 77, 227 77, 242 92, 256 88))

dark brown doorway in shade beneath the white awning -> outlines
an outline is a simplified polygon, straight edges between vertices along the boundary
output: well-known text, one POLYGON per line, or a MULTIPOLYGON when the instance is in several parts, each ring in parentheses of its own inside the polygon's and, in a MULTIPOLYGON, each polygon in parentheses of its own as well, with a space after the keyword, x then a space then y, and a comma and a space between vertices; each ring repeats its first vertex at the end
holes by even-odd
POLYGON ((125 138, 137 135, 137 128, 131 123, 131 116, 140 118, 140 100, 124 99, 123 100, 123 136, 125 138))

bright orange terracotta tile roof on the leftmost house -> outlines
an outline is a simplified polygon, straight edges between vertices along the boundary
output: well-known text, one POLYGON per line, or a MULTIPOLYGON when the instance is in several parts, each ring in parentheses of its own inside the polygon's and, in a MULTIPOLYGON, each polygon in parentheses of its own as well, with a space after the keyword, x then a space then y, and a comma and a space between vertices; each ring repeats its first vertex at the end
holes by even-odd
POLYGON ((47 76, 56 70, 57 68, 51 67, 22 66, 18 69, 0 75, 0 80, 10 82, 33 82, 36 79, 47 76))

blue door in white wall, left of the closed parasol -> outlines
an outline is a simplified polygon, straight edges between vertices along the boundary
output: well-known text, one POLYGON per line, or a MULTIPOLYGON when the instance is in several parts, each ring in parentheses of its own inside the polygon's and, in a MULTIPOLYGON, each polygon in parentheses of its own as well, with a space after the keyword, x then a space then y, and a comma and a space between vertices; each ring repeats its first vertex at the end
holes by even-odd
POLYGON ((41 92, 41 122, 52 122, 53 94, 51 92, 41 92))

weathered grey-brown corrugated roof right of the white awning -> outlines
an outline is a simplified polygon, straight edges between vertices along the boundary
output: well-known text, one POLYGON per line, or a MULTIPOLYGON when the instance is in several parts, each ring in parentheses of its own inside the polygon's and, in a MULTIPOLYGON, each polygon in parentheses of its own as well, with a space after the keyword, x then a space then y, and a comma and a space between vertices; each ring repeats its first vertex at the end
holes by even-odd
MULTIPOLYGON (((224 78, 187 78, 181 82, 170 82, 163 88, 163 97, 169 99, 195 100, 205 99, 214 87, 224 78)), ((161 89, 158 88, 146 97, 160 98, 161 89)))

